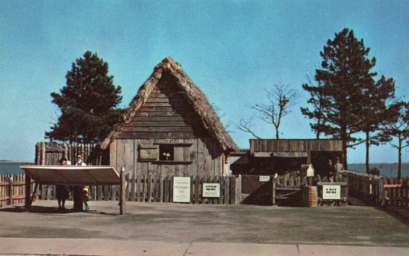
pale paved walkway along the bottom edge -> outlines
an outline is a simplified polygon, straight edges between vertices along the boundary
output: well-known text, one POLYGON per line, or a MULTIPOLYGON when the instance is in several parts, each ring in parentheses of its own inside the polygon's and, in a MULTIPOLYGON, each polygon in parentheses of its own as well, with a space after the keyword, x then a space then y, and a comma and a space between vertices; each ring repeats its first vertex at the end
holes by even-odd
POLYGON ((409 255, 409 247, 0 238, 0 255, 409 255))

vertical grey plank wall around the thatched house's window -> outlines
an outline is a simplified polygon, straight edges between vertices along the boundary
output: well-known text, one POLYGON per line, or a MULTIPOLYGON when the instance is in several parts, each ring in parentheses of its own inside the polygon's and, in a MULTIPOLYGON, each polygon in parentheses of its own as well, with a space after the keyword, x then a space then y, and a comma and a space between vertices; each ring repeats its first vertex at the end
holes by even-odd
POLYGON ((138 175, 163 177, 171 175, 180 177, 224 175, 223 157, 212 157, 205 140, 201 138, 118 138, 110 145, 110 165, 117 170, 120 170, 122 166, 125 167, 127 178, 134 178, 138 175), (140 145, 164 143, 181 144, 174 147, 174 161, 140 161, 140 145))

